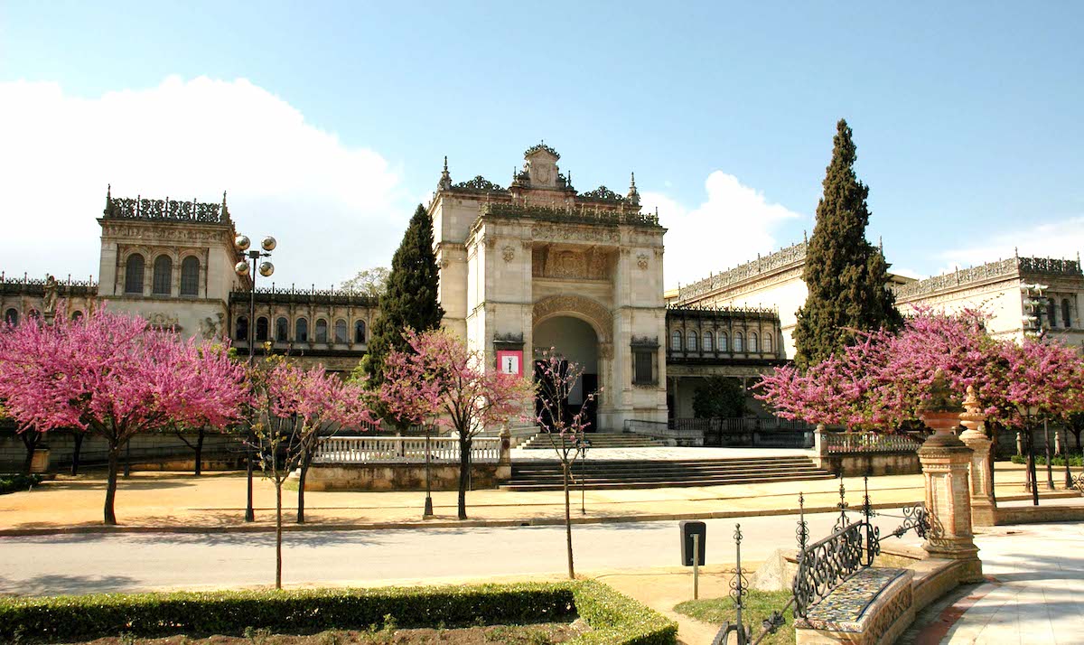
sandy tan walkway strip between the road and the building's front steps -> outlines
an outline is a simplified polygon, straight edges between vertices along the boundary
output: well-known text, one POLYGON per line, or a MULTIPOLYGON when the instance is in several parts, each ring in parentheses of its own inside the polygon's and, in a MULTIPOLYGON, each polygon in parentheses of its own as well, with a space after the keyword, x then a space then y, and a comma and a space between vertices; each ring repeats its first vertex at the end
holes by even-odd
MULTIPOLYGON (((683 449, 668 449, 683 450, 683 449)), ((688 449, 696 450, 696 449, 688 449)), ((551 452, 552 451, 538 451, 551 452)), ((1024 470, 1016 464, 997 464, 998 499, 1024 499, 1024 470)), ((847 477, 852 506, 862 498, 862 478, 847 477)), ((274 526, 274 487, 258 475, 254 479, 256 521, 242 521, 245 477, 236 473, 211 473, 194 477, 184 473, 136 472, 121 478, 117 492, 119 527, 102 526, 105 482, 100 475, 63 477, 29 492, 0 496, 0 536, 55 531, 270 530, 274 526)), ((921 475, 896 475, 869 479, 875 506, 900 506, 925 499, 921 475)), ((739 517, 798 512, 798 493, 805 507, 830 511, 839 502, 838 480, 779 481, 640 490, 573 491, 575 521, 632 521, 739 517), (581 498, 585 514, 580 513, 581 498)), ((408 492, 306 492, 305 527, 292 521, 296 491, 283 496, 285 528, 414 528, 461 526, 455 519, 455 491, 434 493, 436 519, 423 521, 424 493, 408 492)), ((1044 496, 1050 493, 1043 492, 1044 496)), ((1064 491, 1054 495, 1063 496, 1064 491)), ((1069 493, 1071 494, 1071 493, 1069 493)), ((557 524, 564 521, 562 491, 513 492, 477 490, 467 494, 470 524, 490 526, 557 524)))

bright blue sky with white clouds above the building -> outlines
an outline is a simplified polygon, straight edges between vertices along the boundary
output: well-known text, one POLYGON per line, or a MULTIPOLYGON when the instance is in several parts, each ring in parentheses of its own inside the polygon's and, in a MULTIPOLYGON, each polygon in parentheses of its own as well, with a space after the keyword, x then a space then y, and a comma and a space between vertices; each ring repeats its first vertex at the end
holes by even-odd
POLYGON ((544 139, 581 191, 636 172, 673 286, 812 231, 840 117, 896 269, 1084 246, 1084 3, 760 4, 0 3, 0 269, 96 274, 112 182, 229 190, 276 279, 337 282, 443 155, 506 184, 544 139))

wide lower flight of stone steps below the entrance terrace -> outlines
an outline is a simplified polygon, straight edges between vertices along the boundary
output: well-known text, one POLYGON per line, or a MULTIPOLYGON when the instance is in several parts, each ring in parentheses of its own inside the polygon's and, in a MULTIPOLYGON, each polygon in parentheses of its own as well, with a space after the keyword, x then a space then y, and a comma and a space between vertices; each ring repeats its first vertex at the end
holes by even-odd
MULTIPOLYGON (((544 437, 543 437, 544 439, 544 437)), ((723 486, 831 479, 805 456, 765 456, 723 460, 591 460, 573 466, 576 488, 584 476, 589 490, 723 486)), ((531 460, 513 462, 512 478, 502 490, 560 490, 560 462, 531 460)))

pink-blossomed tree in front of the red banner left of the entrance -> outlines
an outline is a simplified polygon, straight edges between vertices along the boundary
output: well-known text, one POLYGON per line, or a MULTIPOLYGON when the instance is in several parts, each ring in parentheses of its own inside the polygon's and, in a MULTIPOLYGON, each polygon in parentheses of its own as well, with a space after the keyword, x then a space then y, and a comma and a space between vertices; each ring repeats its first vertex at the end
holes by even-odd
POLYGON ((380 399, 404 418, 431 416, 459 438, 459 518, 467 518, 472 440, 487 427, 506 423, 530 400, 530 385, 514 374, 489 369, 444 330, 403 333, 411 351, 391 351, 384 363, 380 399))

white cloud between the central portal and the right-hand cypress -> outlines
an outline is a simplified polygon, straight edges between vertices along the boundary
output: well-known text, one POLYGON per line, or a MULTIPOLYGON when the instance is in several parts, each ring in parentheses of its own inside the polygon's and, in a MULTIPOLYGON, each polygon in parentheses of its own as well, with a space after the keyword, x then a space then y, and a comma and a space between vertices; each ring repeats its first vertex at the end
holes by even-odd
POLYGON ((667 227, 667 288, 688 284, 778 248, 775 231, 804 216, 744 185, 737 177, 715 170, 705 181, 707 201, 688 209, 662 193, 645 192, 645 210, 659 208, 667 227))

